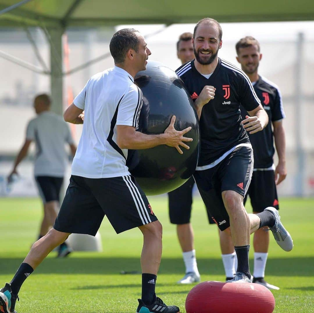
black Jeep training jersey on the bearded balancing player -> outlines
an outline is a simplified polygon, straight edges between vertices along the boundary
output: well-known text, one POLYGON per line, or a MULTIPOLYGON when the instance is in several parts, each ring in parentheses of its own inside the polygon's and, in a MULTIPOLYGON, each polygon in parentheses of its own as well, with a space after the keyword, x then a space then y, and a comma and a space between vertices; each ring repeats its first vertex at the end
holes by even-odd
POLYGON ((252 111, 260 104, 249 78, 233 64, 218 58, 218 65, 207 79, 189 61, 176 70, 193 101, 204 86, 216 88, 215 97, 203 106, 201 129, 201 153, 198 167, 208 165, 239 144, 249 143, 241 124, 240 104, 252 111))

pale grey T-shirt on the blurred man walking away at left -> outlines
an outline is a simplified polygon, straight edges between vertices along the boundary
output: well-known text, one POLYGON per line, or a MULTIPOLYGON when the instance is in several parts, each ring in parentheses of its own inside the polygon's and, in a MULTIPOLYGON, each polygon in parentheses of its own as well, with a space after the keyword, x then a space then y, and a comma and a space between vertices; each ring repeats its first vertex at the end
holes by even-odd
POLYGON ((26 139, 36 143, 34 175, 63 177, 68 164, 65 144, 73 139, 62 116, 51 111, 38 114, 27 125, 26 139))

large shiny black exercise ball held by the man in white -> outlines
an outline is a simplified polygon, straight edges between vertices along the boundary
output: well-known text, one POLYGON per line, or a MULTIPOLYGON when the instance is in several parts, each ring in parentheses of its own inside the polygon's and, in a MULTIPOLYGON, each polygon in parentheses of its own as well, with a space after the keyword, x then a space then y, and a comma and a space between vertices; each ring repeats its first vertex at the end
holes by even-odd
POLYGON ((192 129, 185 135, 190 149, 166 145, 144 150, 129 150, 127 165, 131 174, 148 195, 163 194, 181 186, 195 171, 199 156, 199 124, 190 94, 182 80, 169 67, 149 61, 138 72, 135 83, 143 92, 139 128, 145 134, 161 134, 176 115, 175 129, 192 129))

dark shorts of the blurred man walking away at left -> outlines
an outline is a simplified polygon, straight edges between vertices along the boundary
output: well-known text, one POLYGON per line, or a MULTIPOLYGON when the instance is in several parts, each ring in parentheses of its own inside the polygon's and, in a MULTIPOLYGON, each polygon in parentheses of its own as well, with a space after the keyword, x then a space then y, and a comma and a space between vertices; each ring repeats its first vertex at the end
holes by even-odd
POLYGON ((63 177, 35 176, 39 195, 44 203, 60 201, 63 177))

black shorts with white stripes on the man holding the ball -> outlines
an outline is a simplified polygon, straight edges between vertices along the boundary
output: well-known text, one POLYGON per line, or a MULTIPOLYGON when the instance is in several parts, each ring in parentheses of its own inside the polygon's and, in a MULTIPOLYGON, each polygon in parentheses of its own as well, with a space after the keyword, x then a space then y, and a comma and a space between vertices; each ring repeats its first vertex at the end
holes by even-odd
POLYGON ((157 220, 133 176, 84 178, 72 175, 53 228, 95 236, 105 215, 116 233, 157 220))

